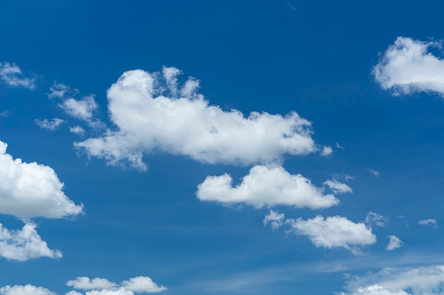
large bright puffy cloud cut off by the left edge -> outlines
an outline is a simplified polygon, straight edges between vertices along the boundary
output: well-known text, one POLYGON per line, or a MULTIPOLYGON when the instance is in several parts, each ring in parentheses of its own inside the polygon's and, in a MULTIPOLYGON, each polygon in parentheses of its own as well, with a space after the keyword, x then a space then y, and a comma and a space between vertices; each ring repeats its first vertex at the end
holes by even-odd
POLYGON ((0 213, 21 218, 61 218, 77 215, 76 205, 63 193, 55 171, 38 163, 15 160, 6 154, 7 144, 0 141, 0 213))

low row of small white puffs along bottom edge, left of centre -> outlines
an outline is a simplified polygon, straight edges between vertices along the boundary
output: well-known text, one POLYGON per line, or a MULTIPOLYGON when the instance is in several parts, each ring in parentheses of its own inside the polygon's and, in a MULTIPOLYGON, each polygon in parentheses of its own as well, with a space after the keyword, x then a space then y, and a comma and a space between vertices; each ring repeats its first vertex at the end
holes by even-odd
MULTIPOLYGON (((134 293, 159 293, 167 287, 159 286, 150 277, 133 277, 121 284, 110 282, 108 279, 96 277, 77 277, 67 282, 67 286, 74 289, 89 290, 86 295, 134 295, 134 293)), ((70 291, 67 295, 82 295, 78 291, 70 291)))

